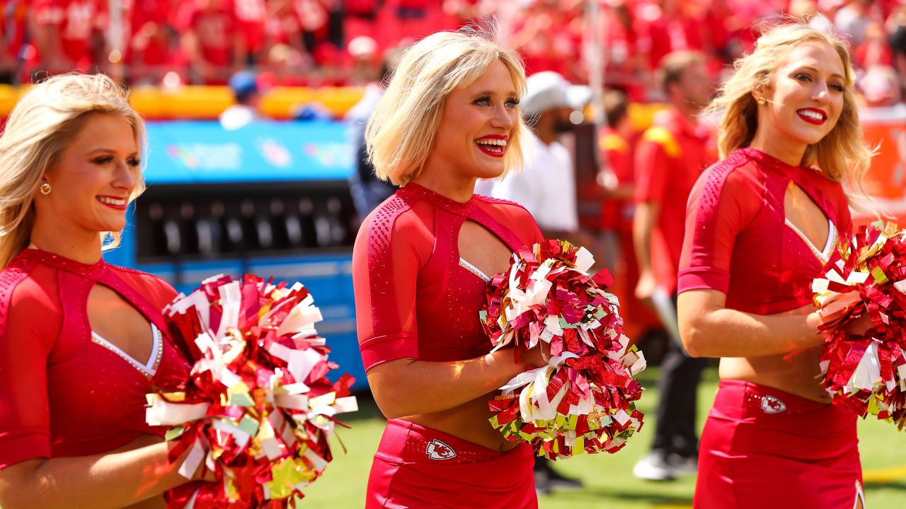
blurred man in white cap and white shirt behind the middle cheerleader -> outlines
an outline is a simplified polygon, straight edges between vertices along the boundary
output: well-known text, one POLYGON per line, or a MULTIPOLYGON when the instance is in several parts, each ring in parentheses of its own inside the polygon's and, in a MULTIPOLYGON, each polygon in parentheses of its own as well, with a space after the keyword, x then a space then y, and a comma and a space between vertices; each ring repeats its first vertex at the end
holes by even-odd
POLYGON ((480 182, 478 194, 515 201, 525 206, 546 238, 574 238, 579 229, 573 157, 558 140, 573 129, 572 101, 591 96, 588 87, 571 85, 557 72, 537 72, 525 83, 520 109, 534 131, 531 158, 521 172, 503 180, 480 182), (488 192, 489 191, 489 192, 488 192))

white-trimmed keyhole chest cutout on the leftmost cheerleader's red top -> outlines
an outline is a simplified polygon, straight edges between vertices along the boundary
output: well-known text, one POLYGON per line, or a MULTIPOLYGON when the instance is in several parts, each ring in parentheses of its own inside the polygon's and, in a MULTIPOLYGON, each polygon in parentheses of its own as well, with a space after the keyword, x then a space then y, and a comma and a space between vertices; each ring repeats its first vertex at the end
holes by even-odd
POLYGON ((88 322, 94 342, 117 355, 125 354, 128 358, 124 359, 130 364, 146 371, 146 374, 153 374, 156 353, 162 346, 159 334, 148 319, 119 293, 110 287, 95 284, 88 294, 88 322), (105 342, 109 344, 103 344, 105 342))

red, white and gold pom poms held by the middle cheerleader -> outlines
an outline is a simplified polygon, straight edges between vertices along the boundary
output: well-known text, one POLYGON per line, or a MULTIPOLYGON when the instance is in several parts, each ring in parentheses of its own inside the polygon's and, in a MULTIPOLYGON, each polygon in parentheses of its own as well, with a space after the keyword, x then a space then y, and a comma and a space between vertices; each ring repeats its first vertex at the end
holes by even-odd
POLYGON ((523 249, 492 278, 480 313, 495 350, 515 346, 518 360, 549 345, 547 366, 511 379, 490 402, 492 426, 539 456, 614 453, 641 429, 633 377, 645 359, 623 333, 617 298, 602 288, 610 274, 588 274, 593 263, 585 248, 563 241, 523 249))

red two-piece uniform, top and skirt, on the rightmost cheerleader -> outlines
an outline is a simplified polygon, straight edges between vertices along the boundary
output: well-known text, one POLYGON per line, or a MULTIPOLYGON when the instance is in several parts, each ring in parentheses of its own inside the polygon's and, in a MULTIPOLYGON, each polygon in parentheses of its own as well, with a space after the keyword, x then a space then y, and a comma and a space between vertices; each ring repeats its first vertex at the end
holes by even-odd
MULTIPOLYGON (((811 283, 853 228, 843 187, 814 168, 738 149, 699 178, 689 197, 679 292, 727 295, 727 308, 774 314, 812 302, 811 283), (812 245, 786 220, 795 182, 824 212, 812 245)), ((722 380, 701 436, 694 505, 851 509, 861 495, 853 412, 742 380, 722 380), (777 505, 781 506, 781 505, 777 505)))

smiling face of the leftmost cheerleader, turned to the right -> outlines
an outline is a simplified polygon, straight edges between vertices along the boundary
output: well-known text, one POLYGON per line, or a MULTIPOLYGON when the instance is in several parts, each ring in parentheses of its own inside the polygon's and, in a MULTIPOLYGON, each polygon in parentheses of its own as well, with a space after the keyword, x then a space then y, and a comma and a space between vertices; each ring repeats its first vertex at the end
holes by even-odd
POLYGON ((43 181, 51 193, 36 192, 35 229, 61 235, 98 235, 126 226, 126 207, 140 182, 135 132, 120 115, 90 113, 43 181))

